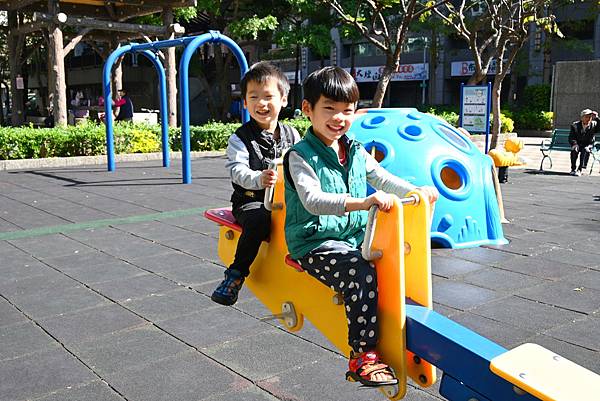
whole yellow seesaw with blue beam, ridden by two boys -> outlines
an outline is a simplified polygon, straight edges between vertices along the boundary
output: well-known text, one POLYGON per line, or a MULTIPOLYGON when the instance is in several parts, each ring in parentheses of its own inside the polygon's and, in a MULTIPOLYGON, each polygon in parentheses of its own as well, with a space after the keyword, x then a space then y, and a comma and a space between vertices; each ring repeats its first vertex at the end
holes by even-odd
MULTIPOLYGON (((341 297, 287 257, 279 173, 265 197, 272 210, 271 237, 262 244, 246 286, 286 329, 300 330, 306 317, 348 355, 341 297)), ((448 400, 597 401, 597 374, 536 344, 506 350, 432 310, 430 206, 420 199, 415 191, 397 199, 390 212, 369 212, 363 256, 374 260, 379 277, 378 350, 399 380, 381 391, 391 400, 402 399, 407 376, 431 386, 435 365, 443 371, 440 394, 448 400)), ((207 210, 205 216, 220 225, 219 257, 229 264, 240 227, 230 208, 207 210)))

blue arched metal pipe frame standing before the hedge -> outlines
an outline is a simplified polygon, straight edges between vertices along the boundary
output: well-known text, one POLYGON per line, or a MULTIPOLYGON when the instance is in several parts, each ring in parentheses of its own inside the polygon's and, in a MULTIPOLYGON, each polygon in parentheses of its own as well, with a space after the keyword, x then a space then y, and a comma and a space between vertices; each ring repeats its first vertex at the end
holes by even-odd
MULTIPOLYGON (((229 47, 240 65, 240 73, 243 77, 248 71, 248 62, 242 49, 230 38, 221 35, 219 32, 210 31, 199 36, 190 36, 180 39, 162 40, 158 42, 129 44, 119 47, 112 52, 106 59, 102 72, 102 85, 104 88, 104 108, 106 111, 106 156, 108 171, 115 170, 115 147, 112 115, 112 93, 111 93, 111 71, 117 59, 126 53, 138 53, 146 56, 158 72, 158 81, 160 85, 160 120, 162 134, 162 154, 163 167, 169 167, 169 127, 167 121, 167 87, 165 79, 165 69, 158 57, 158 50, 167 47, 184 46, 185 49, 179 62, 179 104, 181 108, 181 158, 182 158, 182 176, 183 183, 192 182, 192 165, 190 160, 190 100, 189 100, 189 65, 193 54, 205 43, 223 44, 229 47)), ((242 111, 242 122, 250 120, 247 110, 242 111)))

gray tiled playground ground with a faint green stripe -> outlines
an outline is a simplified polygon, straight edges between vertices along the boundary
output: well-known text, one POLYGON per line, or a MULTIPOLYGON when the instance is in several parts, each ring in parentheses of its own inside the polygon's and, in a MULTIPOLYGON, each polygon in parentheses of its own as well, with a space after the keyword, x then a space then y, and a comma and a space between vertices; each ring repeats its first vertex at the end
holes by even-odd
MULTIPOLYGON (((310 326, 209 295, 222 276, 222 157, 0 173, 1 400, 382 400, 310 326)), ((433 253, 436 310, 505 347, 600 373, 600 178, 511 169, 509 245, 433 253)), ((438 399, 411 386, 408 400, 438 399)))

